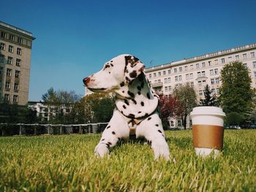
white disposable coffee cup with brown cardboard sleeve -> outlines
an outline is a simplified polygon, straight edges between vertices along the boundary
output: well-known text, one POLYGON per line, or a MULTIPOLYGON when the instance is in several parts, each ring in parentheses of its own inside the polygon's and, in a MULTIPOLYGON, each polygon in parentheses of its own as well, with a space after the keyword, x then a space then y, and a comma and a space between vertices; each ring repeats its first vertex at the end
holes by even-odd
POLYGON ((206 157, 219 155, 223 147, 225 112, 219 107, 195 107, 190 113, 195 153, 206 157))

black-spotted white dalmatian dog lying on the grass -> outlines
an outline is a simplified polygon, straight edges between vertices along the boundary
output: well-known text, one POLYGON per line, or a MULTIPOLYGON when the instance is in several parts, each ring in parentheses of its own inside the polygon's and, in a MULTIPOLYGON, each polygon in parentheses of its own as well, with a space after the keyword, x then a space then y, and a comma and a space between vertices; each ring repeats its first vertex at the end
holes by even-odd
POLYGON ((83 79, 91 91, 116 94, 113 117, 95 147, 97 156, 104 157, 120 139, 135 134, 136 138, 147 140, 155 159, 170 159, 159 118, 159 97, 149 85, 144 68, 145 65, 135 56, 118 55, 106 62, 101 71, 83 79))

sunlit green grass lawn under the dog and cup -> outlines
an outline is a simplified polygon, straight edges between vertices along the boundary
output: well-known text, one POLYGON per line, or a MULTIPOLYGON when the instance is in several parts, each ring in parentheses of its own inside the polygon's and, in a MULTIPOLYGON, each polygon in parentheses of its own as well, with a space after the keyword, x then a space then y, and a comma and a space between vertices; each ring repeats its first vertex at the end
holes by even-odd
POLYGON ((197 158, 191 131, 166 131, 176 164, 131 140, 94 157, 100 135, 0 137, 0 191, 256 191, 256 130, 225 131, 214 159, 197 158))

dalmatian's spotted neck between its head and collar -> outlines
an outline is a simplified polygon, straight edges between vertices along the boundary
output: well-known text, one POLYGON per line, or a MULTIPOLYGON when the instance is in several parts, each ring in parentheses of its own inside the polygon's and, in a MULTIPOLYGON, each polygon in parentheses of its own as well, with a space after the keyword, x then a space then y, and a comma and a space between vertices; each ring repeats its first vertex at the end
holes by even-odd
POLYGON ((131 119, 150 115, 157 109, 159 101, 143 72, 129 85, 121 86, 116 97, 117 110, 131 119))

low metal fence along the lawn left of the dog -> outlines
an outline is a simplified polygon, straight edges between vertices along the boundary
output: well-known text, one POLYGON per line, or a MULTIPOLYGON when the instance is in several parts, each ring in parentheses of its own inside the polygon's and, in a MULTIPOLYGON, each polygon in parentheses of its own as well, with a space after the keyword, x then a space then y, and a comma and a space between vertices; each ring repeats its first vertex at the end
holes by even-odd
POLYGON ((0 123, 0 136, 42 134, 97 134, 104 131, 108 123, 88 124, 24 124, 0 123))

